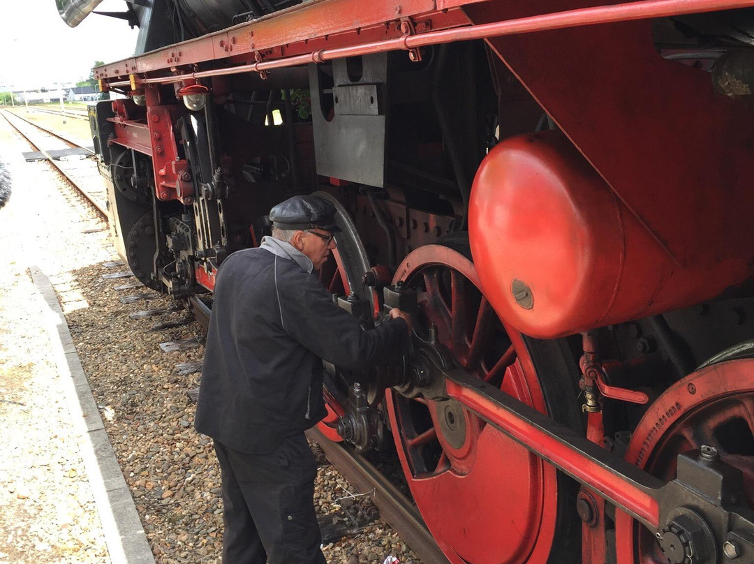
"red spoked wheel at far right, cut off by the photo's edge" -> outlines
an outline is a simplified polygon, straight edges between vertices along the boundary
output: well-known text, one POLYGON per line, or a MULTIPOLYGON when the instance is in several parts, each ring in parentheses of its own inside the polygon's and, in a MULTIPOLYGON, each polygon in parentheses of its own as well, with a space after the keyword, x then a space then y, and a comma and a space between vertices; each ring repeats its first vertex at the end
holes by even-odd
MULTIPOLYGON (((746 501, 754 502, 751 456, 728 452, 727 444, 740 442, 754 431, 754 360, 731 360, 694 372, 667 389, 649 406, 633 431, 625 458, 663 480, 676 476, 681 452, 717 446, 722 461, 743 471, 746 501), (726 427, 737 422, 743 424, 726 427), (727 439, 727 441, 726 441, 727 439), (724 444, 725 444, 724 443, 724 444)), ((667 562, 651 532, 626 513, 616 510, 615 543, 618 564, 667 562)))

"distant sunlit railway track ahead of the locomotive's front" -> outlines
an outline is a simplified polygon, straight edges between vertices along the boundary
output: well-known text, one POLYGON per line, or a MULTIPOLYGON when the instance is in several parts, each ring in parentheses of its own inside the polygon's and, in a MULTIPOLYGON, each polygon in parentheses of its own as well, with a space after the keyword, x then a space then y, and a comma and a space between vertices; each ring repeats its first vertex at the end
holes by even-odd
POLYGON ((26 143, 34 151, 41 152, 49 164, 52 165, 66 179, 73 188, 81 193, 84 198, 97 210, 100 216, 107 219, 107 197, 102 179, 97 172, 97 164, 90 158, 73 161, 57 160, 50 155, 57 149, 78 148, 91 153, 90 149, 83 147, 70 139, 66 139, 54 131, 48 130, 32 121, 21 118, 19 115, 2 110, 2 116, 8 124, 16 130, 20 136, 26 139, 26 143))

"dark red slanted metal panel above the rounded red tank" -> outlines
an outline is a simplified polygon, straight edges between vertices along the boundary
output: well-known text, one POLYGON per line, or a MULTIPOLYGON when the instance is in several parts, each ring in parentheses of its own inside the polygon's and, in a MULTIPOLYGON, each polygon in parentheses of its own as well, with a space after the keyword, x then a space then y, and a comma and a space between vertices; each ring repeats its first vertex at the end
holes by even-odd
MULTIPOLYGON (((549 6, 569 10, 576 4, 553 0, 549 6)), ((613 14, 636 5, 654 17, 669 15, 656 8, 671 7, 634 2, 613 7, 613 14)), ((688 13, 686 8, 728 5, 678 7, 688 13)), ((535 9, 519 0, 466 11, 474 23, 486 25, 535 9)), ((607 8, 583 10, 605 14, 607 8)), ((490 38, 489 44, 674 262, 710 271, 722 263, 728 269, 748 244, 745 218, 754 212, 747 181, 754 132, 746 127, 754 110, 744 100, 716 94, 706 72, 659 57, 650 21, 614 21, 490 38)))

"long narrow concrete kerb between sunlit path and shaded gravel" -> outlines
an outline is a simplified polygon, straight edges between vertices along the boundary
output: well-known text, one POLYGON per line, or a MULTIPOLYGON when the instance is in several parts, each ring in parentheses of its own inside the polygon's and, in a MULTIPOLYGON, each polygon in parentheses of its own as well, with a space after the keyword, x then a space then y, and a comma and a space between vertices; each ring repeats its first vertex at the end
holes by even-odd
POLYGON ((66 391, 72 424, 81 437, 81 457, 100 514, 110 561, 112 564, 155 564, 81 361, 75 349, 72 351, 73 339, 55 290, 37 266, 29 267, 29 273, 39 295, 50 308, 50 314, 45 316, 45 329, 66 391))

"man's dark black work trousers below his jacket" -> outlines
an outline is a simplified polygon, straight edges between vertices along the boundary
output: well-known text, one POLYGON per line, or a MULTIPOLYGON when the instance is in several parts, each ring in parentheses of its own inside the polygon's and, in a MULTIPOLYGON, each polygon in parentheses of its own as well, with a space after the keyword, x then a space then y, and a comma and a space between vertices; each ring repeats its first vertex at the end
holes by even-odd
POLYGON ((317 464, 303 434, 250 455, 215 441, 222 471, 222 564, 326 564, 314 514, 317 464))

